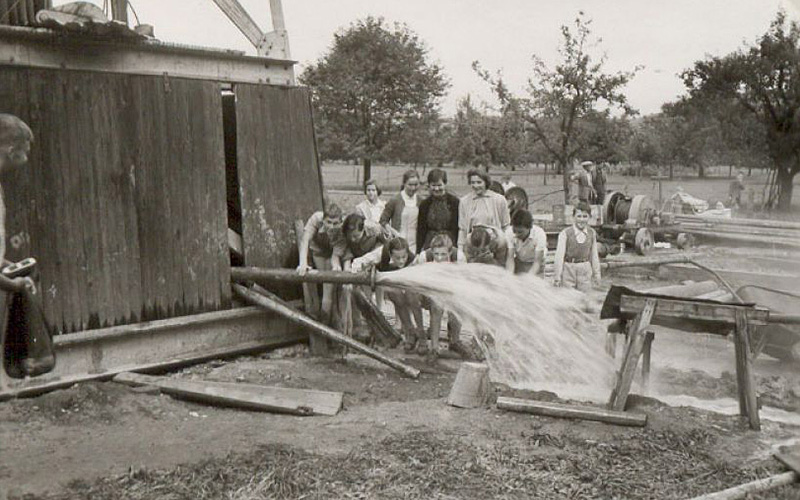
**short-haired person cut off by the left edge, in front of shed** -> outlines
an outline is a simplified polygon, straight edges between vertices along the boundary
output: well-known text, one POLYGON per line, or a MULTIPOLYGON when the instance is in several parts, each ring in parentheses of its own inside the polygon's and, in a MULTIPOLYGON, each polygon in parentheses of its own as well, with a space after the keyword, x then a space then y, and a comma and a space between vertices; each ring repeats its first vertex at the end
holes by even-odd
MULTIPOLYGON (((10 264, 6 260, 6 206, 1 181, 12 168, 22 168, 28 163, 32 141, 33 132, 24 121, 0 113, 0 269, 10 264)), ((33 281, 28 278, 9 280, 0 273, 0 285, 32 287, 33 281)))

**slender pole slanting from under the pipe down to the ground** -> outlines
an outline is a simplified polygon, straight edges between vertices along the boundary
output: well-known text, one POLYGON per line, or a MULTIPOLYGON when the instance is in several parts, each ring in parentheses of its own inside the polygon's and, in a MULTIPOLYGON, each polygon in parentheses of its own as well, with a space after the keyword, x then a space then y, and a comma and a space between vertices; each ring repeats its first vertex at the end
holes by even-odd
POLYGON ((419 377, 419 370, 417 370, 416 368, 403 364, 397 361, 396 359, 390 358, 389 356, 385 356, 383 353, 380 353, 375 349, 372 349, 371 347, 366 346, 361 342, 358 342, 357 340, 342 335, 333 328, 330 328, 326 325, 323 325, 322 323, 314 321, 313 319, 302 314, 301 312, 289 307, 276 295, 273 295, 271 293, 268 293, 267 295, 260 294, 254 292, 253 290, 245 288, 242 285, 236 285, 236 284, 233 285, 233 290, 242 299, 246 300, 247 302, 250 302, 253 305, 280 314, 281 316, 284 316, 286 319, 295 324, 305 326, 329 340, 346 345, 349 348, 353 349, 354 351, 360 352, 377 361, 380 361, 381 363, 390 366, 395 370, 398 370, 408 375, 411 378, 419 377))

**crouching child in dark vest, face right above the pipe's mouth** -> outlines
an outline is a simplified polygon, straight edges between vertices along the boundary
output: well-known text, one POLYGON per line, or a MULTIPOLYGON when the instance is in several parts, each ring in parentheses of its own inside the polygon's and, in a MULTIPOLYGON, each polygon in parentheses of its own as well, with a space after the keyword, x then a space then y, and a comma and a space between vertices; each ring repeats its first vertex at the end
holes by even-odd
MULTIPOLYGON (((383 247, 376 248, 361 257, 353 259, 350 270, 358 273, 375 267, 382 273, 388 273, 406 268, 412 262, 413 254, 408 247, 408 242, 405 238, 398 236, 389 240, 383 247)), ((422 309, 419 303, 419 295, 395 288, 388 288, 384 293, 394 304, 395 313, 400 318, 400 327, 405 337, 403 342, 405 352, 411 353, 416 349, 418 354, 425 354, 422 309), (412 321, 412 315, 415 321, 412 321)))

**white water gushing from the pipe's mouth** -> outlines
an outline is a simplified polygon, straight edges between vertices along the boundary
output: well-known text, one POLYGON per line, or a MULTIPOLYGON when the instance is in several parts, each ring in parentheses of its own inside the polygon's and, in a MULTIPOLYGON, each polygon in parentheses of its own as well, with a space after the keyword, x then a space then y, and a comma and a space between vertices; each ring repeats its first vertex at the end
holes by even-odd
POLYGON ((476 335, 488 333, 494 382, 562 397, 609 394, 614 366, 604 352, 603 328, 585 312, 579 292, 483 264, 412 266, 381 275, 378 284, 427 295, 476 335))

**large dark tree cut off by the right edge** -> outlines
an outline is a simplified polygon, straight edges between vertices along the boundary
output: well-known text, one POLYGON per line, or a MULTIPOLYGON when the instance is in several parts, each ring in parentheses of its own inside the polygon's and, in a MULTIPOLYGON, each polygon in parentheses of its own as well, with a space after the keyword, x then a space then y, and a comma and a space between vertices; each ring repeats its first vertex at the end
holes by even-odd
POLYGON ((754 45, 697 61, 682 76, 692 98, 729 98, 758 120, 774 171, 770 201, 788 211, 800 172, 800 24, 778 12, 754 45))

